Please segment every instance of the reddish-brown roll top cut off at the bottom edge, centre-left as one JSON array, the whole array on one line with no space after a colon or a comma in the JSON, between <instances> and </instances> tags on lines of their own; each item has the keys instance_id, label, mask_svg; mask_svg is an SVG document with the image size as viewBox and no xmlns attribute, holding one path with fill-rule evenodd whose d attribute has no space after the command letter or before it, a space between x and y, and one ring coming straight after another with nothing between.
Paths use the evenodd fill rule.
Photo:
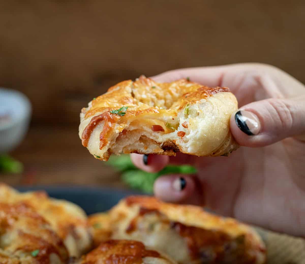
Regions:
<instances>
[{"instance_id":1,"label":"reddish-brown roll top cut off at the bottom edge, centre-left","mask_svg":"<svg viewBox=\"0 0 305 264\"><path fill-rule=\"evenodd\" d=\"M108 240L83 256L78 264L176 264L139 241Z\"/></svg>"}]
</instances>

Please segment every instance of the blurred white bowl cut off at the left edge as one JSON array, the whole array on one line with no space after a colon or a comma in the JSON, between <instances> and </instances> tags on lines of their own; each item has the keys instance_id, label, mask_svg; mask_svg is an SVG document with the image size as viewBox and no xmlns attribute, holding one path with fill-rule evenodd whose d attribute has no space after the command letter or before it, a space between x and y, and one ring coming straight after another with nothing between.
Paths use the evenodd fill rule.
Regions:
<instances>
[{"instance_id":1,"label":"blurred white bowl cut off at the left edge","mask_svg":"<svg viewBox=\"0 0 305 264\"><path fill-rule=\"evenodd\" d=\"M22 93L0 88L0 154L13 150L27 132L31 104Z\"/></svg>"}]
</instances>

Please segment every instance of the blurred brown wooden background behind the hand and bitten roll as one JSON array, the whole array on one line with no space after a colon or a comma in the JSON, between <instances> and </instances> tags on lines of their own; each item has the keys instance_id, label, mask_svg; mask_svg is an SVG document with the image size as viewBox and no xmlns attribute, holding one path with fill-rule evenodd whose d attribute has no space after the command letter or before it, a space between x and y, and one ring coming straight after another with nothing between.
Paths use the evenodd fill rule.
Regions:
<instances>
[{"instance_id":1,"label":"blurred brown wooden background behind the hand and bitten roll","mask_svg":"<svg viewBox=\"0 0 305 264\"><path fill-rule=\"evenodd\" d=\"M305 2L0 1L0 86L25 93L29 133L13 185L124 186L78 138L80 109L141 74L263 62L305 82Z\"/></svg>"}]
</instances>

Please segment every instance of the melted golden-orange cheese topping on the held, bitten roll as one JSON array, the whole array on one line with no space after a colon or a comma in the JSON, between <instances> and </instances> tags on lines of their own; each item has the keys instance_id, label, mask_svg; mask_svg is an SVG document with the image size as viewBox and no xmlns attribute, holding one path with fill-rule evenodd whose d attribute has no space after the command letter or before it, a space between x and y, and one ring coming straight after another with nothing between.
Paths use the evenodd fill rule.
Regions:
<instances>
[{"instance_id":1,"label":"melted golden-orange cheese topping on the held, bitten roll","mask_svg":"<svg viewBox=\"0 0 305 264\"><path fill-rule=\"evenodd\" d=\"M87 147L88 140L93 129L102 121L105 121L104 128L100 133L100 149L107 143L107 135L115 130L120 133L127 126L130 119L149 114L150 119L158 119L162 115L177 116L177 111L185 108L198 100L205 99L219 92L229 92L226 87L210 88L198 83L181 79L170 83L156 83L153 80L141 76L135 82L127 80L109 88L103 94L91 101L91 107L83 108L84 118L94 116L81 135L82 145ZM124 116L110 113L120 107L128 106ZM153 125L153 131L170 133L171 130L160 125ZM179 131L181 132L181 131ZM178 134L183 137L182 133Z\"/></svg>"}]
</instances>

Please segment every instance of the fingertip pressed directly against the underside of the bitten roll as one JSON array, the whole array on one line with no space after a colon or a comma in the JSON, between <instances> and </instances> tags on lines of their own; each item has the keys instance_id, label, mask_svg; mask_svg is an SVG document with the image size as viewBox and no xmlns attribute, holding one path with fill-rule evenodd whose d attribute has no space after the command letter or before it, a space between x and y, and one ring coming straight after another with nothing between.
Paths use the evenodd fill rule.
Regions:
<instances>
[{"instance_id":1,"label":"fingertip pressed directly against the underside of the bitten roll","mask_svg":"<svg viewBox=\"0 0 305 264\"><path fill-rule=\"evenodd\" d=\"M130 156L135 166L147 172L161 171L169 162L169 157L165 155L131 154Z\"/></svg>"}]
</instances>

